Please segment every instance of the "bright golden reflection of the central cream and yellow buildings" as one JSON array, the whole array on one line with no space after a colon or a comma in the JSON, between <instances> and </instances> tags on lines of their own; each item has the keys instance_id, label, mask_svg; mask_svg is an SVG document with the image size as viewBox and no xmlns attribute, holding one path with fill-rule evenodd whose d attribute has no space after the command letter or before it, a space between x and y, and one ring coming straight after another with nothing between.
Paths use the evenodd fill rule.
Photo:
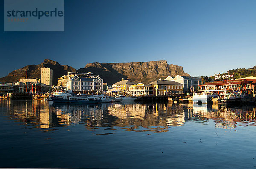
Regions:
<instances>
[{"instance_id":1,"label":"bright golden reflection of the central cream and yellow buildings","mask_svg":"<svg viewBox=\"0 0 256 169\"><path fill-rule=\"evenodd\" d=\"M115 126L180 126L184 124L183 106L178 104L108 104L103 109L115 119Z\"/></svg>"}]
</instances>

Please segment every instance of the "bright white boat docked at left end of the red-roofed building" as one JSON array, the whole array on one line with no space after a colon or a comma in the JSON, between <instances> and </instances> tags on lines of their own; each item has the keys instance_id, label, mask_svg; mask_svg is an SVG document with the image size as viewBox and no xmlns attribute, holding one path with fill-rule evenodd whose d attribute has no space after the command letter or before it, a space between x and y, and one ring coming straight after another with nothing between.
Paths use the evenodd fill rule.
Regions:
<instances>
[{"instance_id":1,"label":"bright white boat docked at left end of the red-roofed building","mask_svg":"<svg viewBox=\"0 0 256 169\"><path fill-rule=\"evenodd\" d=\"M212 91L205 91L204 93L195 93L193 96L193 103L211 103L212 98L218 97L218 94Z\"/></svg>"}]
</instances>

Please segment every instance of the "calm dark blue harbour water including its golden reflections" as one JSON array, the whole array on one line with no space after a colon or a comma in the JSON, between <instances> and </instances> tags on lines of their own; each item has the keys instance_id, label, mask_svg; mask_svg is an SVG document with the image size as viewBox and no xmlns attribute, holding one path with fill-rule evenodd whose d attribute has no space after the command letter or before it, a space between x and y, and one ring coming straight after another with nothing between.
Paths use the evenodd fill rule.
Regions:
<instances>
[{"instance_id":1,"label":"calm dark blue harbour water including its golden reflections","mask_svg":"<svg viewBox=\"0 0 256 169\"><path fill-rule=\"evenodd\" d=\"M253 168L255 106L0 100L0 167Z\"/></svg>"}]
</instances>

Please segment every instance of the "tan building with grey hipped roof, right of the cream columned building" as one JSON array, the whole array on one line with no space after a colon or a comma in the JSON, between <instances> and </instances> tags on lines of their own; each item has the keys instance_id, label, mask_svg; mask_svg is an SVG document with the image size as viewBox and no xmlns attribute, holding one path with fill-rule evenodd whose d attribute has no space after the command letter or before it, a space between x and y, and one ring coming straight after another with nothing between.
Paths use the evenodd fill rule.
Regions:
<instances>
[{"instance_id":1,"label":"tan building with grey hipped roof, right of the cream columned building","mask_svg":"<svg viewBox=\"0 0 256 169\"><path fill-rule=\"evenodd\" d=\"M172 80L159 79L150 83L149 85L154 85L155 96L169 96L172 94L183 94L183 84L172 81Z\"/></svg>"}]
</instances>

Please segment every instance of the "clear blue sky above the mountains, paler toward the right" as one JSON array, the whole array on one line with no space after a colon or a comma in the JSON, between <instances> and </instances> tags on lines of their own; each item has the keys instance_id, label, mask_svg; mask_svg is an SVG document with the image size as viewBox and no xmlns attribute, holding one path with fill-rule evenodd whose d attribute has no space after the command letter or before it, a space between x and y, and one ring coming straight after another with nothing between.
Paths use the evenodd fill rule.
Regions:
<instances>
[{"instance_id":1,"label":"clear blue sky above the mountains, paler toward the right","mask_svg":"<svg viewBox=\"0 0 256 169\"><path fill-rule=\"evenodd\" d=\"M1 23L0 77L44 59L76 69L167 60L196 76L256 65L255 0L66 0L64 32Z\"/></svg>"}]
</instances>

